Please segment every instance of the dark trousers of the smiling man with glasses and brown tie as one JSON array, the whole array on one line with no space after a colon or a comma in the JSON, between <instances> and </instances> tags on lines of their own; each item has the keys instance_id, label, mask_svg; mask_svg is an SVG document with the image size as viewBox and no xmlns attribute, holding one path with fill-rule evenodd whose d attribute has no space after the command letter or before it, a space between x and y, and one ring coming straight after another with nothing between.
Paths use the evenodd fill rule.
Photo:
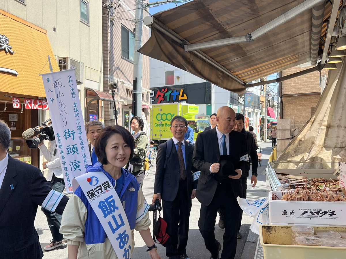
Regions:
<instances>
[{"instance_id":1,"label":"dark trousers of the smiling man with glasses and brown tie","mask_svg":"<svg viewBox=\"0 0 346 259\"><path fill-rule=\"evenodd\" d=\"M163 200L163 219L167 222L166 232L170 235L166 256L170 259L179 259L186 253L191 205L187 180L180 180L178 193L173 201Z\"/></svg>"}]
</instances>

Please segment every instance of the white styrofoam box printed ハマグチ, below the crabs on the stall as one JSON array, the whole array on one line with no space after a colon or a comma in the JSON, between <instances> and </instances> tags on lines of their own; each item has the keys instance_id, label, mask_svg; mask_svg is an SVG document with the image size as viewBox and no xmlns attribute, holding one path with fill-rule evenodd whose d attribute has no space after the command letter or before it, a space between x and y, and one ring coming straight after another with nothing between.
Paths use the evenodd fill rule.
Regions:
<instances>
[{"instance_id":1,"label":"white styrofoam box printed \u30cf\u30de\u30b0\u30c1, below the crabs on the stall","mask_svg":"<svg viewBox=\"0 0 346 259\"><path fill-rule=\"evenodd\" d=\"M281 201L286 192L269 193L269 221L299 224L345 226L346 202L343 201Z\"/></svg>"}]
</instances>

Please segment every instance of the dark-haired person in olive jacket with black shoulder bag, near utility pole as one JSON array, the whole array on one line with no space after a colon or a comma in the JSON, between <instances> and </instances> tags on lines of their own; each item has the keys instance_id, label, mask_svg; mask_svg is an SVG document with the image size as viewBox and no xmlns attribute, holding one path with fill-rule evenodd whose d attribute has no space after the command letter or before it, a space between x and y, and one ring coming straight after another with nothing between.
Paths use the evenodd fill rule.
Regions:
<instances>
[{"instance_id":1,"label":"dark-haired person in olive jacket with black shoulder bag, near utility pole","mask_svg":"<svg viewBox=\"0 0 346 259\"><path fill-rule=\"evenodd\" d=\"M148 150L148 137L143 132L144 122L143 119L138 116L133 116L130 121L131 129L135 132L133 137L135 139L135 146L134 149L134 156L140 156L143 158L143 164L140 165L130 165L131 170L130 172L136 176L137 181L140 185L140 187L143 187L143 181L144 181L144 159L145 154Z\"/></svg>"}]
</instances>

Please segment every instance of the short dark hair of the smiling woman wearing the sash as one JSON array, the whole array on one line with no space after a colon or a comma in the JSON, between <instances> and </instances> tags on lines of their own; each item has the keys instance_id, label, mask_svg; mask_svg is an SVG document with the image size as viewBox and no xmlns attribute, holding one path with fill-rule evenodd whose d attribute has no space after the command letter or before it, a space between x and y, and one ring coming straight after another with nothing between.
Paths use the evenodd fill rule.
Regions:
<instances>
[{"instance_id":1,"label":"short dark hair of the smiling woman wearing the sash","mask_svg":"<svg viewBox=\"0 0 346 259\"><path fill-rule=\"evenodd\" d=\"M97 155L99 161L103 165L108 164L107 155L106 155L106 146L107 146L109 138L113 136L114 134L120 134L122 136L125 143L128 144L131 148L130 159L133 156L133 152L135 149L135 141L131 133L128 130L126 130L126 128L118 126L118 125L108 126L101 131L95 143L95 154Z\"/></svg>"}]
</instances>

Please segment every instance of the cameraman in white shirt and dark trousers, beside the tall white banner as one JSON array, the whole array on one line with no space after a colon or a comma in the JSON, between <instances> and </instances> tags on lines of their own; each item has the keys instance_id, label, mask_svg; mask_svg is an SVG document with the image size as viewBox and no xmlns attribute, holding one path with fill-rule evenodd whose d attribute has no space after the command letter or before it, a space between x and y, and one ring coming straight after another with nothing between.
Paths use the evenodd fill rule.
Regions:
<instances>
[{"instance_id":1,"label":"cameraman in white shirt and dark trousers, beside the tall white banner","mask_svg":"<svg viewBox=\"0 0 346 259\"><path fill-rule=\"evenodd\" d=\"M42 151L43 156L49 162L43 162L43 169L48 168L47 181L51 188L57 192L63 192L65 189L65 182L63 171L60 164L59 152L56 147L55 140L48 142L48 148L41 142L38 148ZM51 230L53 239L48 246L44 247L44 250L53 250L60 246L66 246L66 243L62 241L63 235L59 233L61 224L61 215L55 212L50 212L46 209L41 208L46 214L49 229Z\"/></svg>"}]
</instances>

